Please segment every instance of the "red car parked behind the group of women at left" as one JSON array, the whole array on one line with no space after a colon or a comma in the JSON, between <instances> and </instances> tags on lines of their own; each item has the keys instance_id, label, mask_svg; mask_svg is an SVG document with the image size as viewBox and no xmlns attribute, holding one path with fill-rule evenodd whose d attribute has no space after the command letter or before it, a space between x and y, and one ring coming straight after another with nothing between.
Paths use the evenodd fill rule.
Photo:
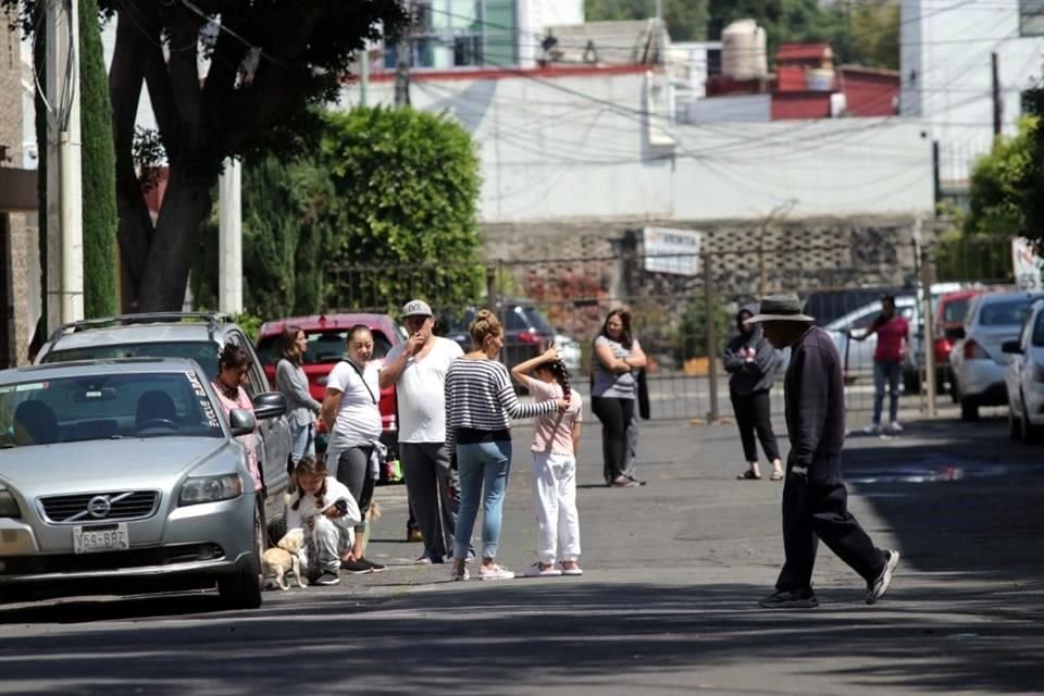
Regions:
<instances>
[{"instance_id":1,"label":"red car parked behind the group of women at left","mask_svg":"<svg viewBox=\"0 0 1044 696\"><path fill-rule=\"evenodd\" d=\"M287 325L300 326L308 336L308 352L302 366L308 375L312 398L322 401L326 394L326 377L345 358L348 330L356 324L368 326L373 333L373 360L380 368L385 356L403 340L403 332L387 314L319 314L288 316L265 322L258 332L258 357L272 388L275 388L275 364L279 361L279 336ZM384 434L381 440L388 448L388 458L398 459L398 431L395 417L395 386L381 389L381 420Z\"/></svg>"}]
</instances>

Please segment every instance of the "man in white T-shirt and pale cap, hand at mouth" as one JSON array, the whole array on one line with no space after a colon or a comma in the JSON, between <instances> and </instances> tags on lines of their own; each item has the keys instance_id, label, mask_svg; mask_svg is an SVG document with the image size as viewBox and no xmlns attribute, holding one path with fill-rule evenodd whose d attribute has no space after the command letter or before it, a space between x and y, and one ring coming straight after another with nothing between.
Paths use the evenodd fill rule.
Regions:
<instances>
[{"instance_id":1,"label":"man in white T-shirt and pale cap, hand at mouth","mask_svg":"<svg viewBox=\"0 0 1044 696\"><path fill-rule=\"evenodd\" d=\"M432 308L411 300L402 308L410 337L393 348L381 370L381 388L396 385L399 457L407 495L424 538L419 563L442 563L452 551L457 472L446 447L446 371L463 355L460 346L432 333Z\"/></svg>"}]
</instances>

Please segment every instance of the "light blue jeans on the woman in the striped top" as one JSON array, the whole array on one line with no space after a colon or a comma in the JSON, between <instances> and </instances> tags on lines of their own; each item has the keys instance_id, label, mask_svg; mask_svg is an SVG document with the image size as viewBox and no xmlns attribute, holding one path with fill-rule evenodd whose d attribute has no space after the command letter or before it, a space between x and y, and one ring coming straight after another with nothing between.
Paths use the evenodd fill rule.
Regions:
<instances>
[{"instance_id":1,"label":"light blue jeans on the woman in the striped top","mask_svg":"<svg viewBox=\"0 0 1044 696\"><path fill-rule=\"evenodd\" d=\"M511 470L511 442L457 445L460 473L460 512L453 533L453 558L468 557L471 533L482 501L482 556L497 557L504 496Z\"/></svg>"}]
</instances>

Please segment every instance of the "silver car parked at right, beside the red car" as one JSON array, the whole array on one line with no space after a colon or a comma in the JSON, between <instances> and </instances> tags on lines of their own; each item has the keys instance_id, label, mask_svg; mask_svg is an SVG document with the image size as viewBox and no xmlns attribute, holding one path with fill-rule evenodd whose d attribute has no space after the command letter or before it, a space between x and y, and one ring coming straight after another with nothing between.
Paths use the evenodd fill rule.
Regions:
<instances>
[{"instance_id":1,"label":"silver car parked at right, beside the red car","mask_svg":"<svg viewBox=\"0 0 1044 696\"><path fill-rule=\"evenodd\" d=\"M1008 357L1002 346L1019 337L1031 306L1042 297L1044 293L986 293L972 300L949 353L961 420L977 420L981 406L1008 403Z\"/></svg>"}]
</instances>

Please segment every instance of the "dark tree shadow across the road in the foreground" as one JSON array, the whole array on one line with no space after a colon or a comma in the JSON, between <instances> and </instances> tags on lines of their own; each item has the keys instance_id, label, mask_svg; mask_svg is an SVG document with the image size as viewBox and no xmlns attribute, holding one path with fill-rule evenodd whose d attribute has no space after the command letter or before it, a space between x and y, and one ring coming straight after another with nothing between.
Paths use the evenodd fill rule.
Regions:
<instances>
[{"instance_id":1,"label":"dark tree shadow across the road in the foreground","mask_svg":"<svg viewBox=\"0 0 1044 696\"><path fill-rule=\"evenodd\" d=\"M499 685L533 693L567 675L574 684L645 693L650 681L687 688L693 672L751 661L766 666L768 683L776 671L809 670L880 693L890 684L928 692L1040 686L1040 584L1009 598L1022 604L1017 617L990 622L980 614L995 598L941 596L937 587L899 584L873 608L858 589L828 588L820 599L829 604L801 612L758 609L763 592L745 584L471 582L362 613L345 595L315 594L196 623L126 622L0 639L0 669L35 693L63 693L69 679L77 693L112 693L115 685L152 695L185 693L194 683L207 693L296 691L310 679L323 680L323 693L502 693ZM169 616L206 611L208 604L166 601ZM41 608L37 618L53 619L52 611ZM33 621L34 612L0 610L0 621L13 620ZM672 674L686 682L672 682Z\"/></svg>"}]
</instances>

